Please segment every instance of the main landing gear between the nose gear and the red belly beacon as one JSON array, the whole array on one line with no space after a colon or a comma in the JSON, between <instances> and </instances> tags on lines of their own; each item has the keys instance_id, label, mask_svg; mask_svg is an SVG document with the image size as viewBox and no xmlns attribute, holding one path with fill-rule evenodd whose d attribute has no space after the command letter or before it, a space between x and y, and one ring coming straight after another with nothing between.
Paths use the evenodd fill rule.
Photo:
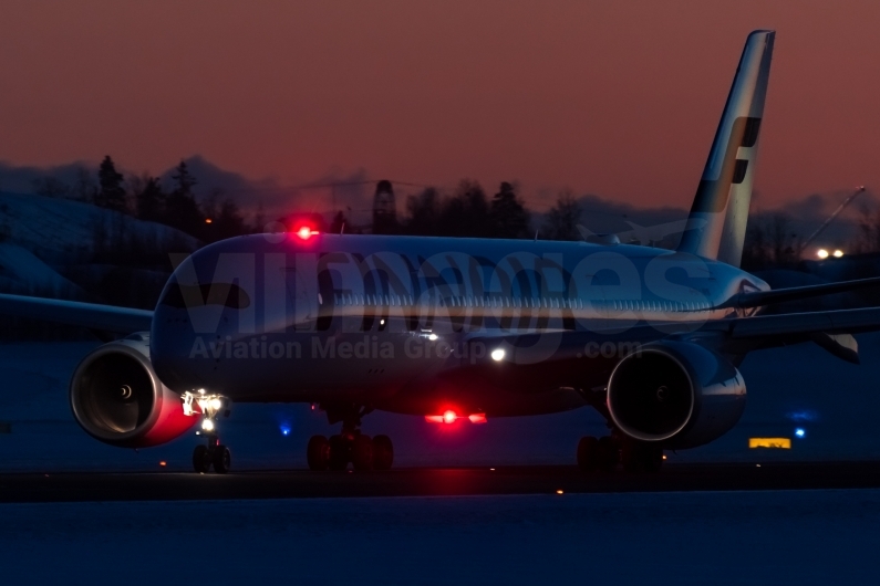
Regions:
<instances>
[{"instance_id":1,"label":"main landing gear between the nose gear and the red belly beacon","mask_svg":"<svg viewBox=\"0 0 880 586\"><path fill-rule=\"evenodd\" d=\"M330 425L342 421L342 432L312 436L306 450L310 470L345 470L351 462L358 471L389 470L394 462L394 446L387 436L370 438L359 429L361 418L372 409L358 405L325 407Z\"/></svg>"}]
</instances>

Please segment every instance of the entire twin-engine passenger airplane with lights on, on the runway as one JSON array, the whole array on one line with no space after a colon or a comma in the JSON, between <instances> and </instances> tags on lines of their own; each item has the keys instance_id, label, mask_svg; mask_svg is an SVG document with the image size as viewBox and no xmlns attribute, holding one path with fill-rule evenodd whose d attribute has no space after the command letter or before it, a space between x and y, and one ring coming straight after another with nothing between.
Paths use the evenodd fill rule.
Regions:
<instances>
[{"instance_id":1,"label":"entire twin-engine passenger airplane with lights on, on the runway","mask_svg":"<svg viewBox=\"0 0 880 586\"><path fill-rule=\"evenodd\" d=\"M584 471L656 471L663 450L714 441L743 415L750 352L814 342L857 363L880 308L762 315L880 279L770 290L739 268L775 32L746 40L676 250L629 244L296 231L175 258L154 311L0 296L0 313L115 332L73 373L70 402L123 448L193 430L196 471L231 465L232 404L320 407L312 470L387 470L373 410L477 425L591 407ZM573 448L573 447L572 447ZM574 451L574 450L572 450Z\"/></svg>"}]
</instances>

